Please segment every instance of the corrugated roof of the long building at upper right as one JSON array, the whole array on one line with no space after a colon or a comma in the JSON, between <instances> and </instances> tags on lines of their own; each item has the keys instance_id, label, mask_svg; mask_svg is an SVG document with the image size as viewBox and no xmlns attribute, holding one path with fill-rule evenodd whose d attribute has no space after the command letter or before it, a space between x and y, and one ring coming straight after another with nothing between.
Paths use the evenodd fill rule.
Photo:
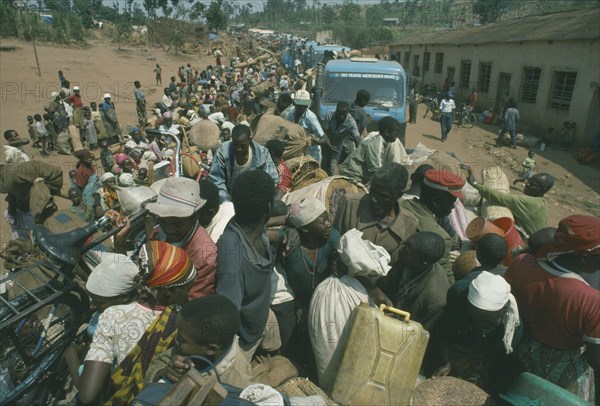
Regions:
<instances>
[{"instance_id":1,"label":"corrugated roof of the long building at upper right","mask_svg":"<svg viewBox=\"0 0 600 406\"><path fill-rule=\"evenodd\" d=\"M419 34L392 45L479 45L600 38L600 7L501 21L466 30Z\"/></svg>"}]
</instances>

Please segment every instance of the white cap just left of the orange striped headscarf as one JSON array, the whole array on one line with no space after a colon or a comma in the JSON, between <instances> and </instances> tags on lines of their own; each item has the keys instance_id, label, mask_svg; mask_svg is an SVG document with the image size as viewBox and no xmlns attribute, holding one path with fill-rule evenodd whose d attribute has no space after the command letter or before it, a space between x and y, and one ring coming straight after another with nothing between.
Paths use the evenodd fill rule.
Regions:
<instances>
[{"instance_id":1,"label":"white cap just left of the orange striped headscarf","mask_svg":"<svg viewBox=\"0 0 600 406\"><path fill-rule=\"evenodd\" d=\"M115 297L135 289L137 265L126 255L113 252L102 254L102 262L88 277L85 288L102 297Z\"/></svg>"}]
</instances>

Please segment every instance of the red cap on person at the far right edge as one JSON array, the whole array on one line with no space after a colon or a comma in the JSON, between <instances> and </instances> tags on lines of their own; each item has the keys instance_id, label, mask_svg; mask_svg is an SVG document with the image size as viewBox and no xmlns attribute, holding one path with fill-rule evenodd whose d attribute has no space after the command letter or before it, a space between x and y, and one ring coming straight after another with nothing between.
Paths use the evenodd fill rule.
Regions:
<instances>
[{"instance_id":1,"label":"red cap on person at the far right edge","mask_svg":"<svg viewBox=\"0 0 600 406\"><path fill-rule=\"evenodd\" d=\"M600 218L576 214L562 219L554 242L540 248L537 257L553 259L563 254L600 255Z\"/></svg>"}]
</instances>

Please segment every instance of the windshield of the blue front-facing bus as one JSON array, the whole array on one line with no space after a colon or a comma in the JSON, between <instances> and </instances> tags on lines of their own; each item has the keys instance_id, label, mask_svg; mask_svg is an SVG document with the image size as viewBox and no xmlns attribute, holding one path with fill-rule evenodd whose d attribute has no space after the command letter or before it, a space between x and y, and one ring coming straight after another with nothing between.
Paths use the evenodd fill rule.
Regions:
<instances>
[{"instance_id":1,"label":"windshield of the blue front-facing bus","mask_svg":"<svg viewBox=\"0 0 600 406\"><path fill-rule=\"evenodd\" d=\"M323 102L352 102L365 89L371 94L371 106L402 107L404 82L394 73L328 72L323 86Z\"/></svg>"}]
</instances>

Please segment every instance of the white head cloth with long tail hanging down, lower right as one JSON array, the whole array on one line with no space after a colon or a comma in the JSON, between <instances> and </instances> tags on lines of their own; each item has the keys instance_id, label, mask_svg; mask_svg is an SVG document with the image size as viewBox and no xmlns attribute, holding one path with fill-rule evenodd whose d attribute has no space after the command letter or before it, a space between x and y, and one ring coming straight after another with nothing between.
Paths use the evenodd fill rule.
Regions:
<instances>
[{"instance_id":1,"label":"white head cloth with long tail hanging down, lower right","mask_svg":"<svg viewBox=\"0 0 600 406\"><path fill-rule=\"evenodd\" d=\"M520 321L517 301L510 293L510 285L506 282L506 279L487 271L481 272L469 285L467 299L473 306L492 312L502 309L507 302L509 303L506 312L502 316L502 324L504 325L502 341L506 353L510 354L513 351L512 339L515 328L520 324Z\"/></svg>"}]
</instances>

